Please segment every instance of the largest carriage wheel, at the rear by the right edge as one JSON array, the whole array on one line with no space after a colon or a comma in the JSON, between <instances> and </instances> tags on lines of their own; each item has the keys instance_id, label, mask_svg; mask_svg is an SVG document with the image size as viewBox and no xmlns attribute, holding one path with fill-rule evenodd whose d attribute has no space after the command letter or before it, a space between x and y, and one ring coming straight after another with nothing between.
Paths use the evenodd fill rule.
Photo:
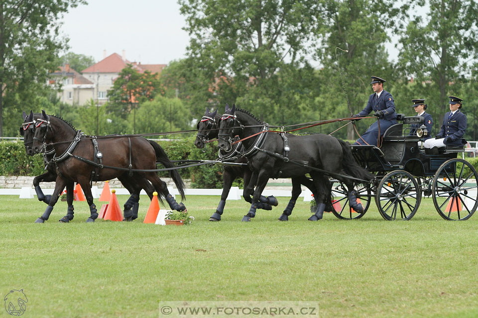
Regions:
<instances>
[{"instance_id":1,"label":"largest carriage wheel, at the rear by the right edge","mask_svg":"<svg viewBox=\"0 0 478 318\"><path fill-rule=\"evenodd\" d=\"M471 218L478 206L477 180L477 170L463 159L450 159L438 168L433 179L433 204L442 218L451 221Z\"/></svg>"}]
</instances>

